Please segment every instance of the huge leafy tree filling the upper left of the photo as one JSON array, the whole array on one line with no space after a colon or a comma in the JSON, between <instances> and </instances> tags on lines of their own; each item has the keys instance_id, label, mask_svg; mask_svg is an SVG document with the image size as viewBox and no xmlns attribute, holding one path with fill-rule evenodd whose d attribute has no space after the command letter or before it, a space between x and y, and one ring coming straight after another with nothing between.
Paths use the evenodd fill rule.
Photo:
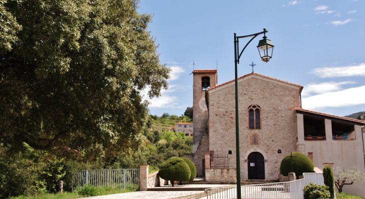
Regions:
<instances>
[{"instance_id":1,"label":"huge leafy tree filling the upper left of the photo","mask_svg":"<svg viewBox=\"0 0 365 199\"><path fill-rule=\"evenodd\" d=\"M111 159L143 141L167 88L137 0L0 1L0 141ZM4 27L4 28L3 28Z\"/></svg>"}]
</instances>

